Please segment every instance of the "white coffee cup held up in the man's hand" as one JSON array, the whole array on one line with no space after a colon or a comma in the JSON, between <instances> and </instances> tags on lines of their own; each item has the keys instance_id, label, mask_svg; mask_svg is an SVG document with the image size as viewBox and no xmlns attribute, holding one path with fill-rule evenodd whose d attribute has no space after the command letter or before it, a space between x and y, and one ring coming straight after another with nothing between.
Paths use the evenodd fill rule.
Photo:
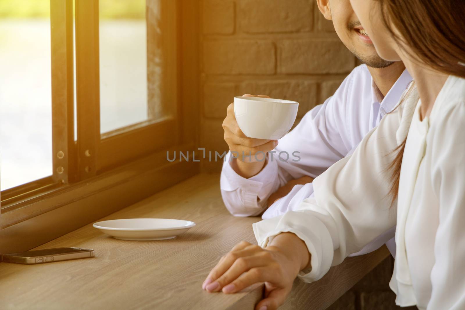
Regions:
<instances>
[{"instance_id":1,"label":"white coffee cup held up in the man's hand","mask_svg":"<svg viewBox=\"0 0 465 310\"><path fill-rule=\"evenodd\" d=\"M234 115L249 138L281 139L297 116L299 102L262 97L234 97Z\"/></svg>"}]
</instances>

